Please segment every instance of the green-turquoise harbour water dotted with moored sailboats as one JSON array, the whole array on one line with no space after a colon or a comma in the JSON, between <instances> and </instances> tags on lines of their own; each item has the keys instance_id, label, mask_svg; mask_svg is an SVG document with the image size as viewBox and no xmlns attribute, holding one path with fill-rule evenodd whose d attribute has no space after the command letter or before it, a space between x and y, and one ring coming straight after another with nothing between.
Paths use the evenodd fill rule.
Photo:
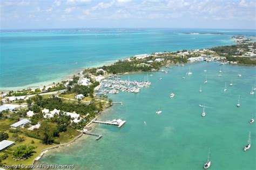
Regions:
<instances>
[{"instance_id":1,"label":"green-turquoise harbour water dotted with moored sailboats","mask_svg":"<svg viewBox=\"0 0 256 170\"><path fill-rule=\"evenodd\" d=\"M193 74L188 77L189 66ZM82 138L44 155L38 164L75 164L76 169L203 169L211 147L210 169L255 169L256 124L248 123L256 111L255 94L250 95L256 85L255 67L223 65L222 77L217 76L219 69L218 63L205 62L174 66L161 74L162 80L160 72L154 72L149 76L152 85L138 94L110 95L124 105L114 105L98 119L122 118L127 121L122 128L97 125L94 132L103 135L99 141ZM130 74L130 80L144 79L146 74ZM173 99L171 92L176 94ZM204 118L199 104L211 107ZM157 115L159 105L163 112ZM249 131L252 146L244 152Z\"/></svg>"}]
</instances>

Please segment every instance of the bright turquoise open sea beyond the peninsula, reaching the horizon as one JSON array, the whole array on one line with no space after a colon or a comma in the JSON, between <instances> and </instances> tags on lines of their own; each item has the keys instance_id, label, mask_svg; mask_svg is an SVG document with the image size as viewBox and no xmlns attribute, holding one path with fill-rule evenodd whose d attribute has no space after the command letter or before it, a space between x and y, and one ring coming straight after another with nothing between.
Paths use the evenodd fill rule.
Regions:
<instances>
[{"instance_id":1,"label":"bright turquoise open sea beyond the peninsula, reaching the horizon","mask_svg":"<svg viewBox=\"0 0 256 170\"><path fill-rule=\"evenodd\" d=\"M223 33L188 35L188 32ZM141 53L233 44L254 30L91 29L19 30L0 34L0 89L42 86L85 67Z\"/></svg>"}]
</instances>

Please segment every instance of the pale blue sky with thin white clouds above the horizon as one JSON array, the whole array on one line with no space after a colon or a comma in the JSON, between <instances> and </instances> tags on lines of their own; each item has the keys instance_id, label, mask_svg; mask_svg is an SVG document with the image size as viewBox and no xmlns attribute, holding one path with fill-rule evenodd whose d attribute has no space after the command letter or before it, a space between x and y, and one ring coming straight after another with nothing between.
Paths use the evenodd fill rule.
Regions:
<instances>
[{"instance_id":1,"label":"pale blue sky with thin white clouds above the horizon","mask_svg":"<svg viewBox=\"0 0 256 170\"><path fill-rule=\"evenodd\" d=\"M251 0L0 0L0 29L256 29Z\"/></svg>"}]
</instances>

